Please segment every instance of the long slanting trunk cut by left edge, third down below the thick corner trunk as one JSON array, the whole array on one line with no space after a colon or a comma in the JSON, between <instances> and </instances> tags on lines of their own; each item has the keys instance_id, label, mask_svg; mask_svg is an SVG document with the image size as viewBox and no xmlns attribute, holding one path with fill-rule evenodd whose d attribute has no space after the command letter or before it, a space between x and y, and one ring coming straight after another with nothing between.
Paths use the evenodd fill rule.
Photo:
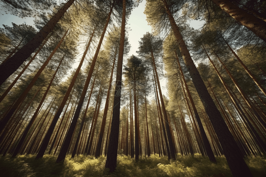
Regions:
<instances>
[{"instance_id":1,"label":"long slanting trunk cut by left edge, third down below the thick corner trunk","mask_svg":"<svg viewBox=\"0 0 266 177\"><path fill-rule=\"evenodd\" d=\"M2 119L2 121L0 123L0 132L4 129L6 123L8 122L8 120L10 120L10 118L13 115L13 113L15 112L16 108L19 106L19 104L22 102L22 100L26 97L26 95L28 94L28 92L30 91L30 89L32 88L32 86L34 85L34 83L36 82L36 80L39 78L39 76L41 75L41 73L44 70L44 68L46 67L46 65L49 63L49 61L51 60L51 58L54 56L54 53L60 47L61 43L63 42L63 40L65 38L65 36L67 35L67 32L68 32L68 30L65 32L65 34L62 37L62 39L59 41L59 43L57 44L57 46L54 48L53 52L50 54L50 56L47 58L47 60L44 62L44 64L41 66L41 68L38 70L38 72L35 74L34 78L29 83L29 85L27 86L27 88L19 96L19 98L17 99L17 101L15 102L15 104L13 105L13 107L10 109L10 111L8 112L8 114Z\"/></svg>"}]
</instances>

